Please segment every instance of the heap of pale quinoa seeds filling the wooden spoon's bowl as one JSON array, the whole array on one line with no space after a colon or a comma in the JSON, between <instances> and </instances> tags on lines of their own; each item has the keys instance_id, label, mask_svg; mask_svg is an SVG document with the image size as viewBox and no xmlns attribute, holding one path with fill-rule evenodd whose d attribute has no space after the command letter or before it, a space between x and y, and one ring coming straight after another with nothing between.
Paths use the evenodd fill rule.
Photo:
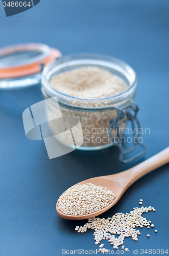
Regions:
<instances>
[{"instance_id":1,"label":"heap of pale quinoa seeds filling the wooden spoon's bowl","mask_svg":"<svg viewBox=\"0 0 169 256\"><path fill-rule=\"evenodd\" d=\"M108 206L114 198L116 198L115 194L106 187L92 183L77 184L68 188L60 196L58 209L66 215L87 215ZM79 230L78 226L75 230Z\"/></svg>"}]
</instances>

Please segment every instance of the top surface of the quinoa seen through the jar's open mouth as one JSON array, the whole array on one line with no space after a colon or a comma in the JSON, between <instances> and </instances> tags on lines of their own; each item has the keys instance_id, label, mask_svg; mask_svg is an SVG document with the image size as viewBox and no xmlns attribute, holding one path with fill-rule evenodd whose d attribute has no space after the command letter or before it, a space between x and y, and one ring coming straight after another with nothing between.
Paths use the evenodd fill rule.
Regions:
<instances>
[{"instance_id":1,"label":"top surface of the quinoa seen through the jar's open mouth","mask_svg":"<svg viewBox=\"0 0 169 256\"><path fill-rule=\"evenodd\" d=\"M57 91L80 98L105 98L126 90L123 79L97 67L63 72L52 78L50 84Z\"/></svg>"}]
</instances>

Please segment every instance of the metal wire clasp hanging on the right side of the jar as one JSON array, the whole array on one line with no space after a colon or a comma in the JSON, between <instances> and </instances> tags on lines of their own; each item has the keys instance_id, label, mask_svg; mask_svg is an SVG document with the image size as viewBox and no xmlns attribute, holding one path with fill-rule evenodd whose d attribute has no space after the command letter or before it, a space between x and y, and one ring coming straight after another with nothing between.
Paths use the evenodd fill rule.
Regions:
<instances>
[{"instance_id":1,"label":"metal wire clasp hanging on the right side of the jar","mask_svg":"<svg viewBox=\"0 0 169 256\"><path fill-rule=\"evenodd\" d=\"M118 146L119 149L120 149L120 156L119 156L120 161L122 163L129 163L129 162L133 161L134 159L144 155L145 152L146 152L146 146L143 143L139 142L140 133L138 133L136 135L136 126L138 127L138 131L141 128L140 123L138 121L138 118L136 117L139 108L134 102L130 101L129 105L127 105L124 109L119 109L119 108L115 108L115 109L117 110L117 117L112 118L111 121L110 121L109 136L110 136L111 142L114 145ZM132 135L134 137L134 146L130 147L127 150L125 150L124 146L122 145L122 134L120 134L120 129L119 129L120 128L119 126L121 124L120 120L122 120L122 119L126 123L127 123L127 121L131 122L131 130L132 130ZM116 138L118 140L116 140L116 138L114 138L114 136L112 135L112 133L111 133L112 129L114 131L116 131ZM124 156L126 154L134 151L138 144L140 146L142 146L142 148L143 148L142 152L140 152L140 153L134 155L133 157L128 158L128 159L125 160Z\"/></svg>"}]
</instances>

